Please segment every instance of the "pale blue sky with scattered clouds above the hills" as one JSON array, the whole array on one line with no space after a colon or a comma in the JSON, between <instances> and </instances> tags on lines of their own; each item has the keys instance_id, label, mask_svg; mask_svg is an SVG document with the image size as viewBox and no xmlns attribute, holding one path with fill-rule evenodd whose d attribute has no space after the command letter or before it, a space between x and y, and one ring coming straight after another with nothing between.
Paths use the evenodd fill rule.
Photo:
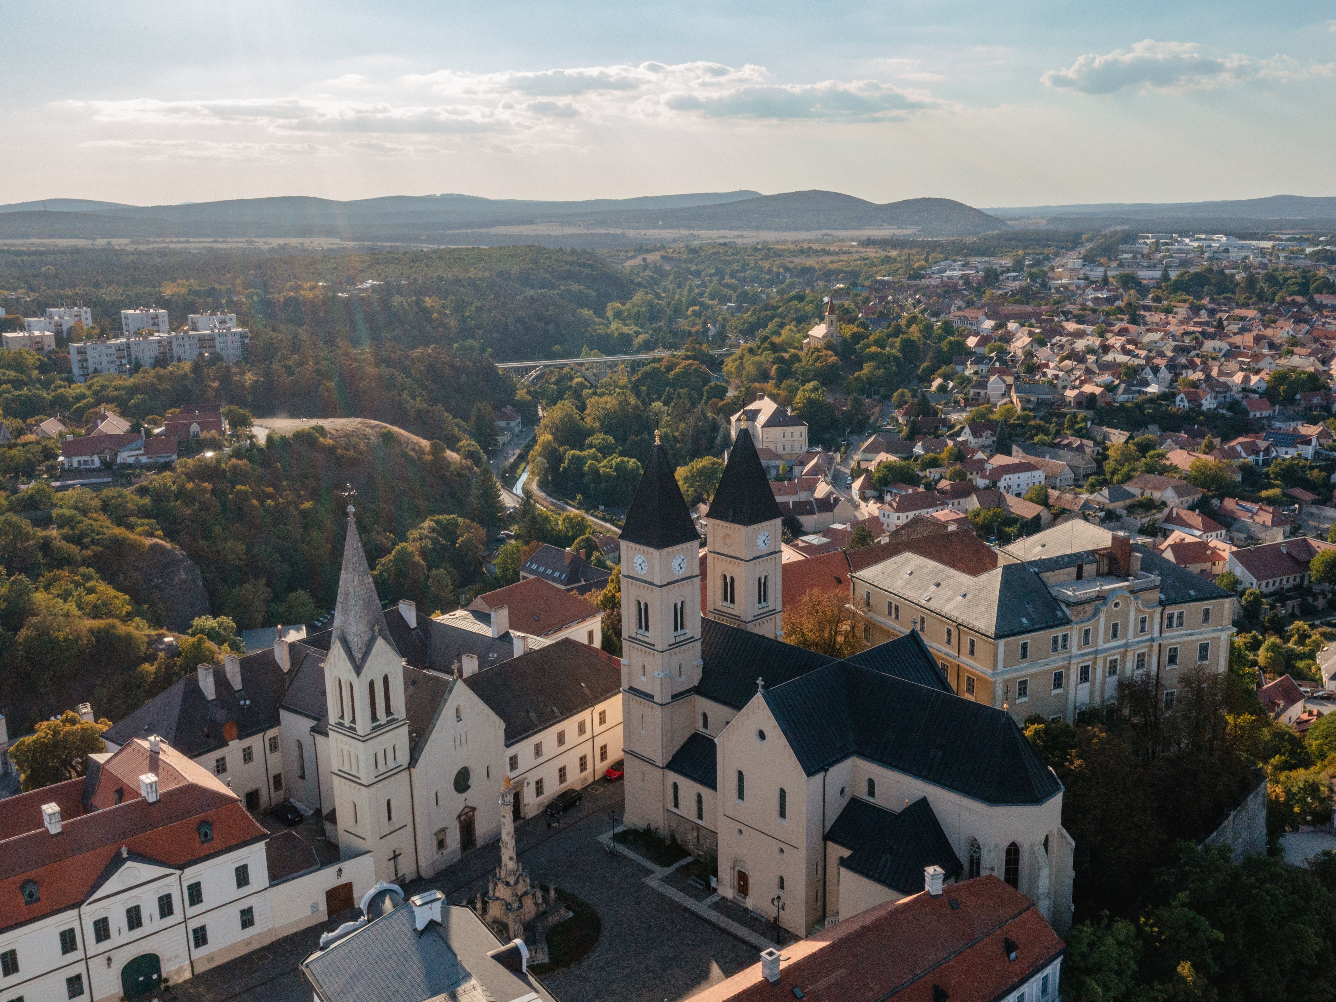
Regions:
<instances>
[{"instance_id":1,"label":"pale blue sky with scattered clouds above the hills","mask_svg":"<svg viewBox=\"0 0 1336 1002\"><path fill-rule=\"evenodd\" d=\"M4 0L0 203L1336 195L1303 0Z\"/></svg>"}]
</instances>

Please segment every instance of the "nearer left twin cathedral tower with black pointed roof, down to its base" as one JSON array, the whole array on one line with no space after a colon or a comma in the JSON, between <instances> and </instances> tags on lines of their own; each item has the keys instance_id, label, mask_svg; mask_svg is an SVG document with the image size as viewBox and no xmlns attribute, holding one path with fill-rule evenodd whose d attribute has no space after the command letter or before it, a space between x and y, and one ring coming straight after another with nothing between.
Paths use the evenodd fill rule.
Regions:
<instances>
[{"instance_id":1,"label":"nearer left twin cathedral tower with black pointed roof, down to its base","mask_svg":"<svg viewBox=\"0 0 1336 1002\"><path fill-rule=\"evenodd\" d=\"M663 767L691 736L700 681L700 533L655 434L621 530L621 709L627 824L664 828Z\"/></svg>"}]
</instances>

